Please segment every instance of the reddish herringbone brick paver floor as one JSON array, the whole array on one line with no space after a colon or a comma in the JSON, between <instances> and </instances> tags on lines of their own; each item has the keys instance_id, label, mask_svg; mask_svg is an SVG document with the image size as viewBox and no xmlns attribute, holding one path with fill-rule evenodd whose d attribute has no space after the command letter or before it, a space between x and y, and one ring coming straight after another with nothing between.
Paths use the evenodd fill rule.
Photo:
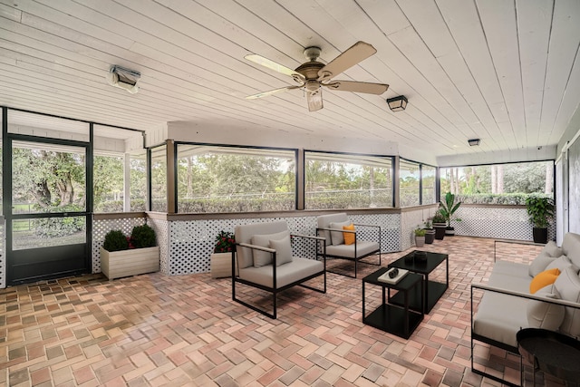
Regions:
<instances>
[{"instance_id":1,"label":"reddish herringbone brick paver floor","mask_svg":"<svg viewBox=\"0 0 580 387\"><path fill-rule=\"evenodd\" d=\"M494 241L446 237L424 249L449 254L449 289L409 340L362 324L361 278L376 266L359 266L357 279L328 274L325 295L287 290L277 320L234 303L231 280L209 274L8 287L0 290L0 385L498 386L469 363L469 285L487 280ZM527 262L539 247L498 251ZM385 255L383 266L403 254ZM430 279L444 276L441 266ZM268 305L255 289L244 293ZM367 310L380 297L367 288ZM518 381L516 356L484 344L475 351L489 372Z\"/></svg>"}]
</instances>

